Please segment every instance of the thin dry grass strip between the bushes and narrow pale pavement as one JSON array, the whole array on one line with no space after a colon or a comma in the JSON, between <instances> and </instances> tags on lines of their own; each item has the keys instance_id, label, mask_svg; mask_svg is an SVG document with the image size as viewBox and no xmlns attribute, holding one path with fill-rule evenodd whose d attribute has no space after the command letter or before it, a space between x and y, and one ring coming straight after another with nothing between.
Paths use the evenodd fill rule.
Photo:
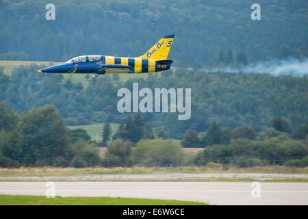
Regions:
<instances>
[{"instance_id":1,"label":"thin dry grass strip between the bushes and narrow pale pavement","mask_svg":"<svg viewBox=\"0 0 308 219\"><path fill-rule=\"evenodd\" d=\"M95 168L54 168L54 167L21 167L0 168L0 177L68 177L81 175L103 174L149 174L149 173L281 173L281 174L307 174L307 168L293 168L286 166L255 166L249 168L230 167L222 170L211 166L179 166L179 167L95 167ZM306 178L306 177L305 177ZM307 180L307 178L305 179Z\"/></svg>"}]
</instances>

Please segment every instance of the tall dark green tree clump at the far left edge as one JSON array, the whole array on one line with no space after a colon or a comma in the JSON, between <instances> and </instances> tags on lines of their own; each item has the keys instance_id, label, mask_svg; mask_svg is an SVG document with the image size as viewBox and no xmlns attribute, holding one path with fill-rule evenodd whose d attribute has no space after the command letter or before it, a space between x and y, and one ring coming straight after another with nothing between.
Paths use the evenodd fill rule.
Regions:
<instances>
[{"instance_id":1,"label":"tall dark green tree clump at the far left edge","mask_svg":"<svg viewBox=\"0 0 308 219\"><path fill-rule=\"evenodd\" d=\"M1 101L0 124L0 166L101 164L101 157L86 131L70 131L53 105L32 108L18 116Z\"/></svg>"}]
</instances>

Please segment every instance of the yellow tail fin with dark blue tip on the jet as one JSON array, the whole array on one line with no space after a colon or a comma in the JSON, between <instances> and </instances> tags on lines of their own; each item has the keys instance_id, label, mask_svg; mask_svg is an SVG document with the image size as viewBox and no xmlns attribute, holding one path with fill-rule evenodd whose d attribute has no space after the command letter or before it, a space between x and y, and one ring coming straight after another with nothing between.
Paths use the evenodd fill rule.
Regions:
<instances>
[{"instance_id":1,"label":"yellow tail fin with dark blue tip on the jet","mask_svg":"<svg viewBox=\"0 0 308 219\"><path fill-rule=\"evenodd\" d=\"M156 42L156 44L151 49L149 49L149 51L139 57L149 60L166 60L173 38L175 38L175 34L164 36L162 39Z\"/></svg>"}]
</instances>

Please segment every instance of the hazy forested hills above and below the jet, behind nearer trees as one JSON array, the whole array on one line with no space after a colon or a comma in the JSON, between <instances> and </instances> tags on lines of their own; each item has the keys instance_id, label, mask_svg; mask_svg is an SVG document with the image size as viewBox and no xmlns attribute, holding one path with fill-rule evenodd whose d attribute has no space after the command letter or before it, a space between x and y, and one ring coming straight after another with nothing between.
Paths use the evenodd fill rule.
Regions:
<instances>
[{"instance_id":1,"label":"hazy forested hills above and below the jet, behind nearer trees","mask_svg":"<svg viewBox=\"0 0 308 219\"><path fill-rule=\"evenodd\" d=\"M0 0L0 60L66 61L85 54L133 57L162 36L175 34L169 57L179 68L128 80L88 75L78 82L75 75L38 74L43 66L19 66L7 75L0 69L0 100L18 114L53 104L67 125L105 120L120 124L127 114L117 111L116 93L138 82L140 89L192 89L189 120L178 120L177 113L141 114L145 123L171 138L183 138L188 129L205 132L214 122L256 132L270 127L279 115L292 130L308 122L308 81L301 77L305 74L272 77L271 70L253 75L249 70L230 74L203 68L247 66L271 58L307 60L307 1L260 0L260 21L251 19L252 0L55 0L54 21L45 18L47 3Z\"/></svg>"}]
</instances>

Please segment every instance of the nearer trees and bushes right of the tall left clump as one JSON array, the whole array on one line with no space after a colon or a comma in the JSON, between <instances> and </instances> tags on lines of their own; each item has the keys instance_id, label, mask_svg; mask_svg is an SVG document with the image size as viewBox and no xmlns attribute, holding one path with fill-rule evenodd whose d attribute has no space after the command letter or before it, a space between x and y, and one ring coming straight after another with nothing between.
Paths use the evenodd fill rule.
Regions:
<instances>
[{"instance_id":1,"label":"nearer trees and bushes right of the tall left clump","mask_svg":"<svg viewBox=\"0 0 308 219\"><path fill-rule=\"evenodd\" d=\"M140 125L141 124L141 125ZM106 124L105 127L108 127ZM159 131L154 135L143 135L144 125L137 114L133 120L129 116L127 125L120 125L107 145L103 159L104 166L179 166L233 164L239 167L285 165L308 166L308 125L299 124L292 133L287 120L277 116L272 127L255 133L251 127L222 128L216 122L204 133L189 129L185 132L180 144L165 138ZM139 138L134 131L138 128ZM103 129L105 136L106 129ZM131 136L128 134L131 132ZM108 132L109 133L109 132ZM151 131L153 133L153 131ZM127 135L128 134L128 135ZM167 140L166 140L167 139ZM103 140L105 142L105 140ZM183 159L182 147L203 147L201 153L191 159ZM132 148L135 147L134 151Z\"/></svg>"}]
</instances>

